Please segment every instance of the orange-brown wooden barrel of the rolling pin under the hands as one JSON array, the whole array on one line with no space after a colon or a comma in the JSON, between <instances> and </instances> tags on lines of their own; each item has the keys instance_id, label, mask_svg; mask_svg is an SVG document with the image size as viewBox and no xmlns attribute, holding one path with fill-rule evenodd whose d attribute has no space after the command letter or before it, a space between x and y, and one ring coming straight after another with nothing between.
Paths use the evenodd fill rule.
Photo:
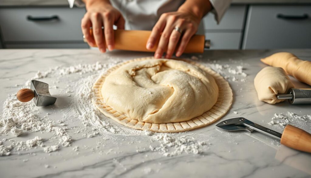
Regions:
<instances>
[{"instance_id":1,"label":"orange-brown wooden barrel of the rolling pin under the hands","mask_svg":"<svg viewBox=\"0 0 311 178\"><path fill-rule=\"evenodd\" d=\"M93 36L92 29L90 29L90 33L91 36ZM154 52L157 49L159 39L156 41L156 45L151 50L148 50L146 44L150 34L151 31L144 30L114 30L114 48L126 51ZM184 53L203 53L204 43L204 35L193 35L186 46ZM179 44L177 44L177 46L178 45Z\"/></svg>"}]
</instances>

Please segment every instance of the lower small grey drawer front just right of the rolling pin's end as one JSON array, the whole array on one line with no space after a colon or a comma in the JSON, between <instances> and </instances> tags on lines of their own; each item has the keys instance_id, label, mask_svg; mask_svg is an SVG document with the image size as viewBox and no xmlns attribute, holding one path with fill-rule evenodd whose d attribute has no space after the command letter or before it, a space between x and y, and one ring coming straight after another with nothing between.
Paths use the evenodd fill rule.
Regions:
<instances>
[{"instance_id":1,"label":"lower small grey drawer front just right of the rolling pin's end","mask_svg":"<svg viewBox=\"0 0 311 178\"><path fill-rule=\"evenodd\" d=\"M205 38L211 40L210 49L239 49L241 33L205 33Z\"/></svg>"}]
</instances>

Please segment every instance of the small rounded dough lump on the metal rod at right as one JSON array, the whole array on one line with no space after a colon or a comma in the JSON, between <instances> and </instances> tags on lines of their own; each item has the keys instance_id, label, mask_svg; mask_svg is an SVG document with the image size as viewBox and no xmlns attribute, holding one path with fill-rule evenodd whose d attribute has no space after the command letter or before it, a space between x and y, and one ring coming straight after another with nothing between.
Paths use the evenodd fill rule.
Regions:
<instances>
[{"instance_id":1,"label":"small rounded dough lump on the metal rod at right","mask_svg":"<svg viewBox=\"0 0 311 178\"><path fill-rule=\"evenodd\" d=\"M277 99L277 94L285 94L294 84L281 67L265 67L254 79L258 99L269 104L279 103L285 99Z\"/></svg>"}]
</instances>

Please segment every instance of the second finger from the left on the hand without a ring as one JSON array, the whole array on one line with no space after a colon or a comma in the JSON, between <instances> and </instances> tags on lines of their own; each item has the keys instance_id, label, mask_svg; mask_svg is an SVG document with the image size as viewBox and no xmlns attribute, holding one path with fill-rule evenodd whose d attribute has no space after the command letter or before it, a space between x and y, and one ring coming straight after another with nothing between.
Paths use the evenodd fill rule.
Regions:
<instances>
[{"instance_id":1,"label":"second finger from the left on the hand without a ring","mask_svg":"<svg viewBox=\"0 0 311 178\"><path fill-rule=\"evenodd\" d=\"M95 42L99 50L104 53L106 52L106 46L103 40L103 30L101 29L103 22L100 13L94 13L91 16L91 20L93 25L93 35Z\"/></svg>"}]
</instances>

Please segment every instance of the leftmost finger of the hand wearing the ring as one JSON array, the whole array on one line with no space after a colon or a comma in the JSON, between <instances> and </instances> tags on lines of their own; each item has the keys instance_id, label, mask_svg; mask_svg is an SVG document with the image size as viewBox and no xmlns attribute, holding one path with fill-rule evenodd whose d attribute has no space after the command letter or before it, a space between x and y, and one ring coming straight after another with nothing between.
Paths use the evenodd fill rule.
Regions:
<instances>
[{"instance_id":1,"label":"leftmost finger of the hand wearing the ring","mask_svg":"<svg viewBox=\"0 0 311 178\"><path fill-rule=\"evenodd\" d=\"M166 25L166 18L165 16L161 16L156 25L152 28L151 34L147 40L146 48L148 50L152 49L156 41L159 39L161 32L164 30Z\"/></svg>"}]
</instances>

